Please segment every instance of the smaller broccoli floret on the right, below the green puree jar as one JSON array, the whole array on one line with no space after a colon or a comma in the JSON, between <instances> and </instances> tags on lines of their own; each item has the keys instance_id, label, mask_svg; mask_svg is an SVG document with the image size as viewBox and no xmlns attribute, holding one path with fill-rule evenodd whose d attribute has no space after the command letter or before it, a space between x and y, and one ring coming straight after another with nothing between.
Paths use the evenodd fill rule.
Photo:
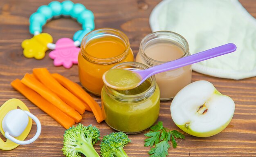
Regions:
<instances>
[{"instance_id":1,"label":"smaller broccoli floret on the right, below the green puree jar","mask_svg":"<svg viewBox=\"0 0 256 157\"><path fill-rule=\"evenodd\" d=\"M128 157L123 147L126 146L130 139L124 132L112 132L103 137L101 146L102 157Z\"/></svg>"}]
</instances>

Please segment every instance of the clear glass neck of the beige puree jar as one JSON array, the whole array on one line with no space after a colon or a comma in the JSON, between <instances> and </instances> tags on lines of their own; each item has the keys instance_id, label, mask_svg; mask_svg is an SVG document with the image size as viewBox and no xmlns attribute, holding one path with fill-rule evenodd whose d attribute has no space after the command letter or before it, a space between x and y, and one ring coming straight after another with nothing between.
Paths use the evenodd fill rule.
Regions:
<instances>
[{"instance_id":1,"label":"clear glass neck of the beige puree jar","mask_svg":"<svg viewBox=\"0 0 256 157\"><path fill-rule=\"evenodd\" d=\"M189 44L183 36L181 36L180 34L177 34L175 32L172 32L172 31L156 31L156 32L153 32L153 33L145 36L141 40L141 43L139 46L138 55L141 56L141 59L147 65L155 66L155 65L160 65L160 64L166 63L166 61L157 61L153 58L150 58L145 53L145 49L147 49L148 47L150 47L151 45L154 45L156 43L170 43L170 44L180 47L182 49L182 51L184 52L184 54L180 58L190 55L189 54Z\"/></svg>"}]
</instances>

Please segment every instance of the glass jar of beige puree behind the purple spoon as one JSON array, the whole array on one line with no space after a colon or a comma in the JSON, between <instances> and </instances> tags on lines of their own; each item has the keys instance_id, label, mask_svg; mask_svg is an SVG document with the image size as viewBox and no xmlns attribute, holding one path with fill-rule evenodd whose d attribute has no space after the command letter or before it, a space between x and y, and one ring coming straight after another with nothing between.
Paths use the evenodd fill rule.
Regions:
<instances>
[{"instance_id":1,"label":"glass jar of beige puree behind the purple spoon","mask_svg":"<svg viewBox=\"0 0 256 157\"><path fill-rule=\"evenodd\" d=\"M189 56L189 44L180 34L171 31L157 31L141 40L136 62L149 67ZM155 75L161 100L170 100L183 87L191 83L191 65Z\"/></svg>"}]
</instances>

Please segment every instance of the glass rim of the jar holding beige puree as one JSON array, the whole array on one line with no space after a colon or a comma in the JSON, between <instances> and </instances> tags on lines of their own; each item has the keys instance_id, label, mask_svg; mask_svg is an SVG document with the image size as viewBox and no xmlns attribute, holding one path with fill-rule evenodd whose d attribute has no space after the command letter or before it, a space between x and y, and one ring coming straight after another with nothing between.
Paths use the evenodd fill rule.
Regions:
<instances>
[{"instance_id":1,"label":"glass rim of the jar holding beige puree","mask_svg":"<svg viewBox=\"0 0 256 157\"><path fill-rule=\"evenodd\" d=\"M161 38L159 36L164 36L166 39L168 38L169 40L172 40L175 43L182 43L182 49L184 50L184 54L180 57L186 57L189 56L189 43L187 42L187 40L180 34L177 34L173 31L155 31L152 32L148 35L146 35L142 40L141 43L139 45L139 53L138 55L141 55L142 59L144 59L144 61L146 61L146 63L150 66L155 66L155 65L160 65L166 62L170 62L170 61L157 61L151 57L149 57L148 55L146 55L144 53L144 49L146 48L146 44L148 42L150 42L151 40L153 40L153 38ZM177 41L180 40L180 41ZM145 48L144 48L145 47ZM179 58L178 58L179 59Z\"/></svg>"}]
</instances>

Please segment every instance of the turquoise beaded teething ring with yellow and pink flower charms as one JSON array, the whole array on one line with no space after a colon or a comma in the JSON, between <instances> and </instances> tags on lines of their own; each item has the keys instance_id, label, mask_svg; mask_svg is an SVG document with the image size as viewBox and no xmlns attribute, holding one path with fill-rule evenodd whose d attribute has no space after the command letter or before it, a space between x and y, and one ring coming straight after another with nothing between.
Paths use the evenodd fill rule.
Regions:
<instances>
[{"instance_id":1,"label":"turquoise beaded teething ring with yellow and pink flower charms","mask_svg":"<svg viewBox=\"0 0 256 157\"><path fill-rule=\"evenodd\" d=\"M70 16L76 18L82 25L82 30L76 31L73 40L61 38L56 44L52 43L52 36L42 33L42 27L47 20L60 16ZM27 58L42 59L47 49L54 49L49 53L49 57L54 59L54 65L63 65L65 68L77 64L79 53L78 46L81 45L83 37L94 29L94 15L92 11L85 8L83 4L74 4L70 0L63 2L53 1L48 5L40 6L29 18L29 32L33 38L22 42L23 54Z\"/></svg>"}]
</instances>

